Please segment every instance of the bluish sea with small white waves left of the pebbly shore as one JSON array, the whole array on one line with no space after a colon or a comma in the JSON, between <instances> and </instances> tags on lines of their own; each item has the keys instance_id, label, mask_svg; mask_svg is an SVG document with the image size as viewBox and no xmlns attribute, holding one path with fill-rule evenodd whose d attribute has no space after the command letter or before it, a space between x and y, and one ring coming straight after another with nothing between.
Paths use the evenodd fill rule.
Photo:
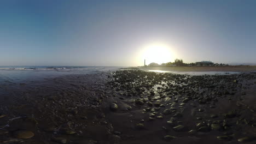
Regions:
<instances>
[{"instance_id":1,"label":"bluish sea with small white waves left of the pebbly shore","mask_svg":"<svg viewBox=\"0 0 256 144\"><path fill-rule=\"evenodd\" d=\"M1 66L0 83L2 82L22 82L22 81L42 81L71 74L95 74L100 71L117 70L119 67L61 67L61 66Z\"/></svg>"}]
</instances>

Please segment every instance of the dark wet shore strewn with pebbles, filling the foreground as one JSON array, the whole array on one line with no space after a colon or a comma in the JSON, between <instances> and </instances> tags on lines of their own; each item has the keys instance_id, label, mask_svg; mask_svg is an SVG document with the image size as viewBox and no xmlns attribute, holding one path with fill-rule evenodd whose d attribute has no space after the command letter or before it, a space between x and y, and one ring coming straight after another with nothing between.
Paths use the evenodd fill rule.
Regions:
<instances>
[{"instance_id":1,"label":"dark wet shore strewn with pebbles, filling the foreground","mask_svg":"<svg viewBox=\"0 0 256 144\"><path fill-rule=\"evenodd\" d=\"M256 73L133 69L0 88L1 143L256 142Z\"/></svg>"}]
</instances>

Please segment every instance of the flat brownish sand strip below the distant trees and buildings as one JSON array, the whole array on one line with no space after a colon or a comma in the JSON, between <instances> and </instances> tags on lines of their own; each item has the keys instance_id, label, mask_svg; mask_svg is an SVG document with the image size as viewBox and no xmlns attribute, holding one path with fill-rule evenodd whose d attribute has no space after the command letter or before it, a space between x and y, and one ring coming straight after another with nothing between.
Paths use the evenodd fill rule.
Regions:
<instances>
[{"instance_id":1,"label":"flat brownish sand strip below the distant trees and buildings","mask_svg":"<svg viewBox=\"0 0 256 144\"><path fill-rule=\"evenodd\" d=\"M205 67L139 67L143 70L162 70L162 71L234 71L234 72L255 72L256 66L205 66Z\"/></svg>"}]
</instances>

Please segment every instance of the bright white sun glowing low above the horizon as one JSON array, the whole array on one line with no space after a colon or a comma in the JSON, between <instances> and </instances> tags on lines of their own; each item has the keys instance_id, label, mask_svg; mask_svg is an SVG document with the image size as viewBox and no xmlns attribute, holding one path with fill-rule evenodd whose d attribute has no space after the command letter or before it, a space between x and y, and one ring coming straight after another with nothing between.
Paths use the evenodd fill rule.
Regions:
<instances>
[{"instance_id":1,"label":"bright white sun glowing low above the horizon","mask_svg":"<svg viewBox=\"0 0 256 144\"><path fill-rule=\"evenodd\" d=\"M149 44L144 47L143 58L146 59L146 64L162 64L173 60L173 52L167 44Z\"/></svg>"}]
</instances>

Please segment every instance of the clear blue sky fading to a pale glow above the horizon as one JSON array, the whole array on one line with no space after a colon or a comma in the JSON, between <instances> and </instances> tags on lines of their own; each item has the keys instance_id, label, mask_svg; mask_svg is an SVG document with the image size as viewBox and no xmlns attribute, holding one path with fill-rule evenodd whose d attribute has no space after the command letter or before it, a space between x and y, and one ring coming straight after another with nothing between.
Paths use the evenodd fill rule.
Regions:
<instances>
[{"instance_id":1,"label":"clear blue sky fading to a pale glow above the horizon","mask_svg":"<svg viewBox=\"0 0 256 144\"><path fill-rule=\"evenodd\" d=\"M3 0L0 65L138 66L152 47L157 58L171 62L256 63L255 5L250 0Z\"/></svg>"}]
</instances>

